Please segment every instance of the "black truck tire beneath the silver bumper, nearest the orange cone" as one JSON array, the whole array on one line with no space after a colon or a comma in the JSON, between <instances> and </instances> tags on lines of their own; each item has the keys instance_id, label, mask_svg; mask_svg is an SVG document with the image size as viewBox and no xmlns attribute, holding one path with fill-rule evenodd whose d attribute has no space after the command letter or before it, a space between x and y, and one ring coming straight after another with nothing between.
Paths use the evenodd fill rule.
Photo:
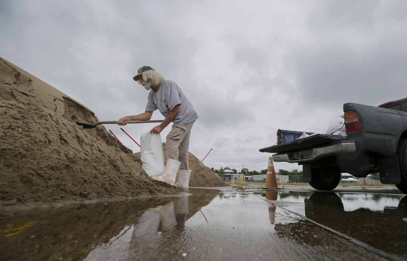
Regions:
<instances>
[{"instance_id":1,"label":"black truck tire beneath the silver bumper, nearest the orange cone","mask_svg":"<svg viewBox=\"0 0 407 261\"><path fill-rule=\"evenodd\" d=\"M309 185L314 189L332 190L341 181L341 172L336 168L311 168L311 182Z\"/></svg>"}]
</instances>

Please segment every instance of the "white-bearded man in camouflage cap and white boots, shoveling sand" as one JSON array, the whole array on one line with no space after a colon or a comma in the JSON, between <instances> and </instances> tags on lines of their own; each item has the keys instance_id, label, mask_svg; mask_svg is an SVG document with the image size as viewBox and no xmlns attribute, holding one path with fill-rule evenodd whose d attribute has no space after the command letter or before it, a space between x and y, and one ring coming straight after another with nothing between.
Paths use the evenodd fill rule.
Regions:
<instances>
[{"instance_id":1,"label":"white-bearded man in camouflage cap and white boots, shoveling sand","mask_svg":"<svg viewBox=\"0 0 407 261\"><path fill-rule=\"evenodd\" d=\"M178 189L188 189L191 170L188 166L188 148L191 128L198 114L190 101L176 83L165 80L164 77L150 66L138 69L133 77L147 91L147 107L144 113L126 116L120 119L119 125L126 125L130 120L150 120L153 111L159 110L165 120L151 129L150 133L160 134L173 122L172 129L166 137L167 164L165 172L160 176L152 176L157 181L164 181ZM175 177L179 169L178 182Z\"/></svg>"}]
</instances>

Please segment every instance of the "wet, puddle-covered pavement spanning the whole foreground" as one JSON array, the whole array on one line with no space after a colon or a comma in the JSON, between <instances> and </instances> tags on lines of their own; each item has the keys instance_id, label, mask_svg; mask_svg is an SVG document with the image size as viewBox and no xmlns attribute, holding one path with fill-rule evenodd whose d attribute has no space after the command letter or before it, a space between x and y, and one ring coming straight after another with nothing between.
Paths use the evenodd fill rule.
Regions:
<instances>
[{"instance_id":1,"label":"wet, puddle-covered pavement spanning the whole foreground","mask_svg":"<svg viewBox=\"0 0 407 261\"><path fill-rule=\"evenodd\" d=\"M407 260L403 194L191 188L0 208L0 260Z\"/></svg>"}]
</instances>

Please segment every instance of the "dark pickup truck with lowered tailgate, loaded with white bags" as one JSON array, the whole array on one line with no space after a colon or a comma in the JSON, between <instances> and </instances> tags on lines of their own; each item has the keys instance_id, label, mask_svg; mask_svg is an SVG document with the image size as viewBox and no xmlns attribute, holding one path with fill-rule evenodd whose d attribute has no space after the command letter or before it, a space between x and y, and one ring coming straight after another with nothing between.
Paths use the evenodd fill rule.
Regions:
<instances>
[{"instance_id":1,"label":"dark pickup truck with lowered tailgate, loaded with white bags","mask_svg":"<svg viewBox=\"0 0 407 261\"><path fill-rule=\"evenodd\" d=\"M277 144L260 152L276 162L302 165L304 182L314 189L335 189L341 173L358 178L379 172L380 182L407 194L407 98L377 107L344 104L346 135L277 131Z\"/></svg>"}]
</instances>

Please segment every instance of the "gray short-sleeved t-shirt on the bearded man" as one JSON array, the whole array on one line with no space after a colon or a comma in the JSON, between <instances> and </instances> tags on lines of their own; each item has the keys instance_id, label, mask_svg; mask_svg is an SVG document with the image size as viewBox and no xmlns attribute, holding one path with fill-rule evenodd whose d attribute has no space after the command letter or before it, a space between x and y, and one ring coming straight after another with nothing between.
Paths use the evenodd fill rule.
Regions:
<instances>
[{"instance_id":1,"label":"gray short-sleeved t-shirt on the bearded man","mask_svg":"<svg viewBox=\"0 0 407 261\"><path fill-rule=\"evenodd\" d=\"M146 111L158 109L164 117L167 117L175 105L179 105L179 113L173 120L174 125L187 124L198 118L191 102L172 80L161 81L158 91L151 89L147 100Z\"/></svg>"}]
</instances>

